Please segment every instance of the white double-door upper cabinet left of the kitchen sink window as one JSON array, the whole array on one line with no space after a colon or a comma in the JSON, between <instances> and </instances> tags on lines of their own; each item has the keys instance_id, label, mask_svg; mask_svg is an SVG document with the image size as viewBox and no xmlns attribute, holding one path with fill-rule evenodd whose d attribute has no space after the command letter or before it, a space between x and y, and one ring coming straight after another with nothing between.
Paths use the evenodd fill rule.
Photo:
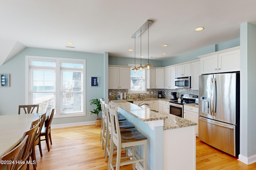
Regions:
<instances>
[{"instance_id":1,"label":"white double-door upper cabinet left of the kitchen sink window","mask_svg":"<svg viewBox=\"0 0 256 170\"><path fill-rule=\"evenodd\" d=\"M108 67L108 89L130 89L130 67Z\"/></svg>"}]
</instances>

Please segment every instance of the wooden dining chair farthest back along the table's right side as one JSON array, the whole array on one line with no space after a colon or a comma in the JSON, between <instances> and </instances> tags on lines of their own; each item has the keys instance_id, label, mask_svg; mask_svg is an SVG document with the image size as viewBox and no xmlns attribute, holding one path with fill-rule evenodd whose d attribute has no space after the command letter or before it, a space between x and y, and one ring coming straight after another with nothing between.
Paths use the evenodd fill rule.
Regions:
<instances>
[{"instance_id":1,"label":"wooden dining chair farthest back along the table's right side","mask_svg":"<svg viewBox=\"0 0 256 170\"><path fill-rule=\"evenodd\" d=\"M42 127L41 134L40 134L40 137L44 136L44 139L40 139L40 140L41 141L42 140L46 141L48 152L50 151L49 140L50 140L50 143L52 144L51 124L52 124L52 118L53 118L53 115L54 115L54 111L55 111L55 109L52 109L52 113L50 115L49 120L47 121L46 127Z\"/></svg>"}]
</instances>

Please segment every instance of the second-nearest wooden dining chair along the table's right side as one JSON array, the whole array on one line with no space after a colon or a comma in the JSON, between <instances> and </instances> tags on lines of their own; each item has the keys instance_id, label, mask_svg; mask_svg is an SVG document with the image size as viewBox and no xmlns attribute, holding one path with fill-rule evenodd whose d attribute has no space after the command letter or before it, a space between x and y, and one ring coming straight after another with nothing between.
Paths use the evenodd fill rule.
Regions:
<instances>
[{"instance_id":1,"label":"second-nearest wooden dining chair along the table's right side","mask_svg":"<svg viewBox=\"0 0 256 170\"><path fill-rule=\"evenodd\" d=\"M31 128L30 130L24 133L22 138L25 138L25 136L28 136L28 139L25 144L23 155L20 155L19 157L21 158L22 161L25 162L25 164L20 162L20 164L16 164L15 169L17 168L18 170L29 170L28 161L30 160L30 155L32 153L32 148L34 146L34 140L35 140L38 127L39 127L39 124L37 124L36 126L34 126L33 128Z\"/></svg>"}]
</instances>

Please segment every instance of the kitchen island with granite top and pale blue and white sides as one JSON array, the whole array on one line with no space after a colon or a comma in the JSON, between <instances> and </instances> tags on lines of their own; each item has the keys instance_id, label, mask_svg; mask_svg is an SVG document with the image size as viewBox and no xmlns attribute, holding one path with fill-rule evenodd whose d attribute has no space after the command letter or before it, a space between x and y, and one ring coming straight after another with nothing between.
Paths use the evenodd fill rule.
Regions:
<instances>
[{"instance_id":1,"label":"kitchen island with granite top and pale blue and white sides","mask_svg":"<svg viewBox=\"0 0 256 170\"><path fill-rule=\"evenodd\" d=\"M126 100L112 102L118 106L118 113L148 138L148 169L196 169L196 123ZM136 149L140 157L142 148ZM136 164L136 168L141 166Z\"/></svg>"}]
</instances>

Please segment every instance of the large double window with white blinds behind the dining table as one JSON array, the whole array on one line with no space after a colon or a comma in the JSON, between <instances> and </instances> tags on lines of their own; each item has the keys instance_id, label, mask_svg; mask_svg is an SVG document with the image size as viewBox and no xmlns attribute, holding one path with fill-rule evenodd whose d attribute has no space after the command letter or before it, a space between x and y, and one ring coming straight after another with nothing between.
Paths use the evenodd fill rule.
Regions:
<instances>
[{"instance_id":1,"label":"large double window with white blinds behind the dining table","mask_svg":"<svg viewBox=\"0 0 256 170\"><path fill-rule=\"evenodd\" d=\"M85 115L85 60L26 56L26 103L55 117Z\"/></svg>"}]
</instances>

